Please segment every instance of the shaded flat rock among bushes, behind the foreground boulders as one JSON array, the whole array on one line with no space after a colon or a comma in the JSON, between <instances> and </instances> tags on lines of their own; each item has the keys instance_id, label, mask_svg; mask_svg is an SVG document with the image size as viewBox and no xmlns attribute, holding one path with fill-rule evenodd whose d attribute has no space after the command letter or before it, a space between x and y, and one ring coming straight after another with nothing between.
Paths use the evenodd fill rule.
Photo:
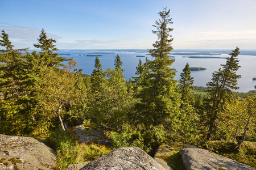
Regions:
<instances>
[{"instance_id":1,"label":"shaded flat rock among bushes, behind the foreground boulders","mask_svg":"<svg viewBox=\"0 0 256 170\"><path fill-rule=\"evenodd\" d=\"M96 125L90 125L90 127L78 125L75 126L73 130L80 142L94 142L100 145L112 146L111 142L105 137L104 133L102 133L102 130L99 130Z\"/></svg>"}]
</instances>

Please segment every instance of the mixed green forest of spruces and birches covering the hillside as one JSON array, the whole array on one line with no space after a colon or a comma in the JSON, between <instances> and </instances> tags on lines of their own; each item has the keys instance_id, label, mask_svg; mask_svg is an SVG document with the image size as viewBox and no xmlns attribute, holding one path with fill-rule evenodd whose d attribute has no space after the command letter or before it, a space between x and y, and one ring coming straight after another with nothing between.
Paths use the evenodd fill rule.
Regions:
<instances>
[{"instance_id":1,"label":"mixed green forest of spruces and birches covering the hillside","mask_svg":"<svg viewBox=\"0 0 256 170\"><path fill-rule=\"evenodd\" d=\"M58 55L56 41L44 29L34 44L40 52L32 53L15 49L2 30L1 134L48 139L57 150L61 169L124 146L138 146L152 155L161 143L174 147L174 155L185 145L195 145L256 168L256 95L233 92L241 76L237 74L239 48L214 71L207 87L193 86L189 63L177 81L171 67L175 58L169 57L173 50L170 10L164 8L159 17L152 31L158 39L148 50L153 59L139 60L136 76L128 82L118 55L113 70L102 70L96 56L92 74L85 75L72 58L63 63L67 58ZM77 143L68 129L80 124L101 125L113 147ZM75 159L78 151L67 154L79 147L97 147L98 152L90 151L80 160ZM168 162L182 169L177 159L179 155Z\"/></svg>"}]
</instances>

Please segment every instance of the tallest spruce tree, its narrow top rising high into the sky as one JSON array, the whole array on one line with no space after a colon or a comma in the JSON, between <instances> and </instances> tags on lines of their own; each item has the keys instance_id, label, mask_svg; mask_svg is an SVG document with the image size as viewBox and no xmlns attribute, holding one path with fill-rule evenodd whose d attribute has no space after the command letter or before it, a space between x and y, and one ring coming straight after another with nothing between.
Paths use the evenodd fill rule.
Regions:
<instances>
[{"instance_id":1,"label":"tallest spruce tree, its narrow top rising high into the sky","mask_svg":"<svg viewBox=\"0 0 256 170\"><path fill-rule=\"evenodd\" d=\"M169 57L173 40L170 35L172 28L168 28L168 24L172 24L170 10L164 8L159 15L160 19L153 25L156 31L152 31L158 40L153 44L155 49L148 50L154 60L147 63L148 73L142 81L136 108L146 127L168 123L172 129L177 129L180 95L174 80L176 73L171 68L174 59Z\"/></svg>"}]
</instances>

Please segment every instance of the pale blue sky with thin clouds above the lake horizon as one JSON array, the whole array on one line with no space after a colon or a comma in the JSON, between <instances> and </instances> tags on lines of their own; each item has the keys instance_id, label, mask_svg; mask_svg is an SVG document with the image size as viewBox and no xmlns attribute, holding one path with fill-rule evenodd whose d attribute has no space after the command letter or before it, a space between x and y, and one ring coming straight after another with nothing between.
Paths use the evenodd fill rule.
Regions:
<instances>
[{"instance_id":1,"label":"pale blue sky with thin clouds above the lake horizon","mask_svg":"<svg viewBox=\"0 0 256 170\"><path fill-rule=\"evenodd\" d=\"M0 0L0 30L16 49L42 28L59 49L152 49L164 7L174 49L256 49L256 0Z\"/></svg>"}]
</instances>

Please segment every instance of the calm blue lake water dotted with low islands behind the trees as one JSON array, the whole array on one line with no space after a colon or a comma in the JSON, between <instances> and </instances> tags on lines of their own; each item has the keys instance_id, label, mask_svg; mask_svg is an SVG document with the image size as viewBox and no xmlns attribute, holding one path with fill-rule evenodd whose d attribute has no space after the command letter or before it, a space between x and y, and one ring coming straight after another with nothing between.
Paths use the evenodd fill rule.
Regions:
<instances>
[{"instance_id":1,"label":"calm blue lake water dotted with low islands behind the trees","mask_svg":"<svg viewBox=\"0 0 256 170\"><path fill-rule=\"evenodd\" d=\"M191 71L191 76L194 77L193 85L206 86L206 84L211 81L212 73L217 71L221 67L220 65L226 62L225 58L229 57L228 53L230 52L231 50L174 50L171 56L175 57L175 62L171 67L177 70L175 79L180 79L180 73L188 62L190 67L204 67L207 69ZM255 90L254 86L256 85L256 80L252 80L252 78L256 77L256 50L240 50L240 52L241 54L238 56L238 60L240 60L239 65L241 67L237 74L241 74L242 78L238 79L238 87L240 87L238 91L248 92ZM139 59L141 59L142 62L145 61L146 57L151 59L151 56L147 55L147 50L59 50L58 53L60 56L66 58L73 57L78 63L78 68L82 69L82 73L84 74L92 74L94 69L95 56L89 57L86 55L97 55L98 58L100 58L102 69L106 70L108 68L114 68L114 58L118 54L123 62L122 68L125 69L123 75L126 80L129 80L131 76L135 76L134 73L136 66L138 66ZM188 58L191 56L221 58Z\"/></svg>"}]
</instances>

